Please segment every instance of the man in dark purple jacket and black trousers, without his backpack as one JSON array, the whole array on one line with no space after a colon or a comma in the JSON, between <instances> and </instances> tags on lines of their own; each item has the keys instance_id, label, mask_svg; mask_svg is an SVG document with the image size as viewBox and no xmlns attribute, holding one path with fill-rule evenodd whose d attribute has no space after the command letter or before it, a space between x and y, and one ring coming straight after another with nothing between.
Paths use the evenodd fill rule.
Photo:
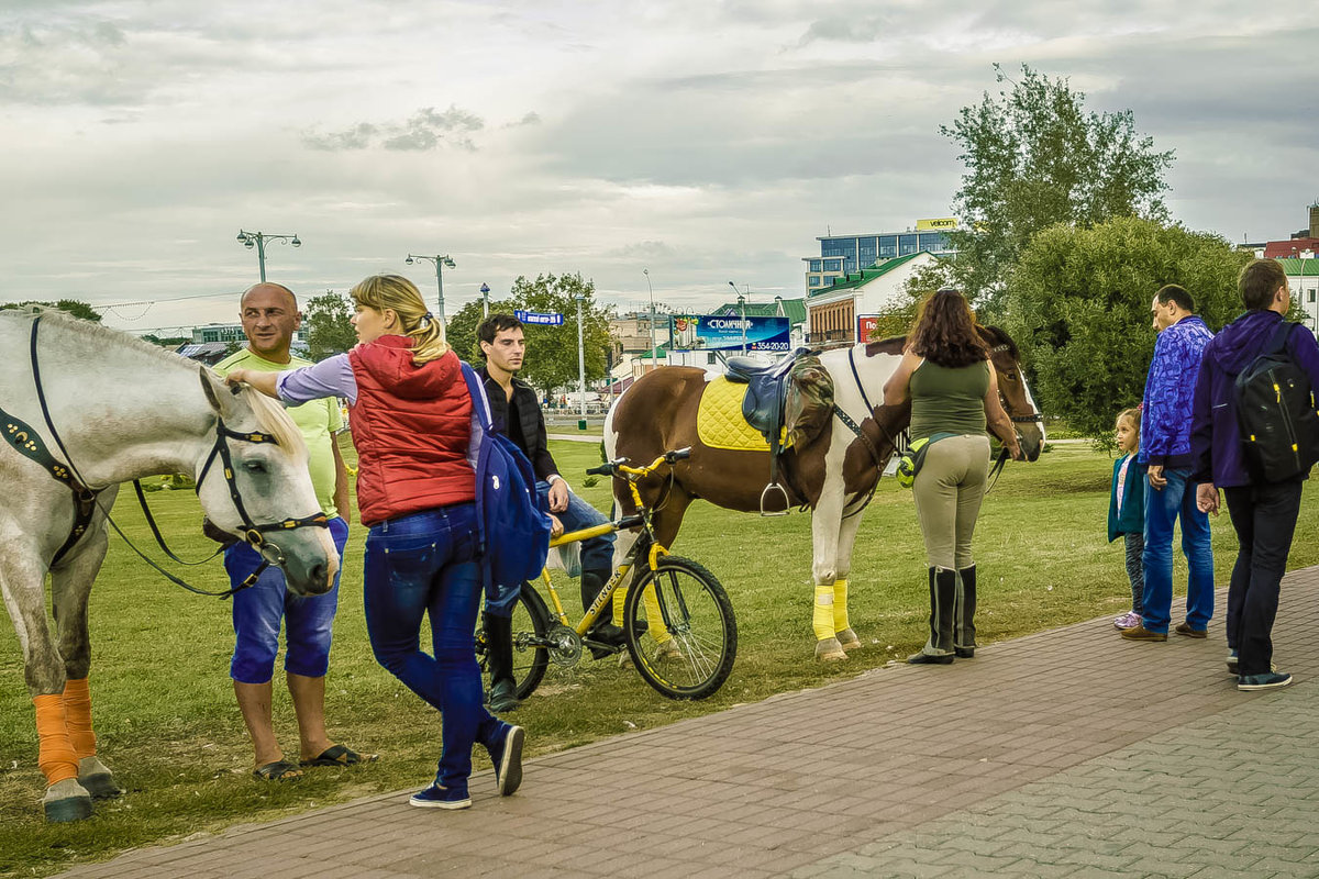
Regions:
<instances>
[{"instance_id":1,"label":"man in dark purple jacket and black trousers, without his backpack","mask_svg":"<svg viewBox=\"0 0 1319 879\"><path fill-rule=\"evenodd\" d=\"M1228 671L1237 689L1274 689L1291 675L1273 669L1273 618L1287 567L1291 536L1301 514L1302 473L1282 482L1254 478L1245 467L1236 412L1236 378L1264 353L1283 315L1291 308L1287 275L1275 260L1256 260L1237 283L1246 312L1223 328L1204 349L1195 386L1191 453L1198 502L1219 511L1219 492L1237 535L1237 560L1228 586ZM1303 327L1289 336L1283 351L1319 387L1319 344Z\"/></svg>"}]
</instances>

